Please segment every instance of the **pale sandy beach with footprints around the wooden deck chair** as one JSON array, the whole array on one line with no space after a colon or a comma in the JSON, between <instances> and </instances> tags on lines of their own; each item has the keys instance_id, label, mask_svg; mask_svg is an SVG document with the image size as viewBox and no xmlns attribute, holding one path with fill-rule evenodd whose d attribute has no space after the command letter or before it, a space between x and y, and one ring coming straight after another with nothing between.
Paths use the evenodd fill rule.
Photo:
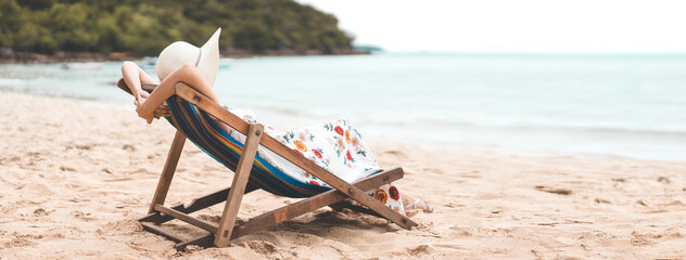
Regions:
<instances>
[{"instance_id":1,"label":"pale sandy beach with footprints around the wooden deck chair","mask_svg":"<svg viewBox=\"0 0 686 260\"><path fill-rule=\"evenodd\" d=\"M405 192L435 205L417 229L322 208L191 247L142 231L174 136L134 109L0 92L0 259L684 259L686 161L436 150L368 140ZM230 184L186 144L167 204ZM295 202L244 197L247 219ZM199 216L217 221L215 206ZM176 224L176 223L175 223Z\"/></svg>"}]
</instances>

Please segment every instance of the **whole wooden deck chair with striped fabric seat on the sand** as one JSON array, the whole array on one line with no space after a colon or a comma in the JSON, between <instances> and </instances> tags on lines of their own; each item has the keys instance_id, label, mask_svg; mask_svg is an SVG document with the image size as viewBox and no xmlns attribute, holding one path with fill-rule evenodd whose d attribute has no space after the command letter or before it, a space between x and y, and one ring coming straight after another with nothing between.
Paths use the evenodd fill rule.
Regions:
<instances>
[{"instance_id":1,"label":"whole wooden deck chair with striped fabric seat on the sand","mask_svg":"<svg viewBox=\"0 0 686 260\"><path fill-rule=\"evenodd\" d=\"M117 87L129 94L131 93L123 79L119 79ZM149 92L153 88L154 86L143 86L143 89ZM346 198L358 202L367 207L367 211L385 218L404 229L409 230L411 226L417 225L407 217L392 210L367 194L367 192L381 185L402 179L404 174L402 168L393 168L372 174L356 183L347 183L298 155L276 139L264 134L262 125L249 123L242 120L194 90L191 86L181 82L175 86L175 95L167 100L172 114L170 117L167 117L167 120L177 131L174 141L172 141L172 147L162 170L148 216L140 218L138 221L144 230L176 242L176 249L180 250L189 245L226 247L230 239L264 230L325 206L333 206ZM219 128L211 116L245 134L244 145ZM164 206L164 200L172 184L174 171L179 161L186 139L189 139L211 157L232 170L234 172L233 181L230 187L198 197L188 206L181 204L166 207ZM259 157L256 153L259 145L319 178L333 188L301 183L284 174ZM257 188L281 196L305 198L253 217L244 224L237 224L237 214L243 194ZM226 204L218 225L190 216L194 211L225 200ZM207 233L200 237L186 239L182 235L161 227L162 223L174 219L198 226L207 231Z\"/></svg>"}]
</instances>

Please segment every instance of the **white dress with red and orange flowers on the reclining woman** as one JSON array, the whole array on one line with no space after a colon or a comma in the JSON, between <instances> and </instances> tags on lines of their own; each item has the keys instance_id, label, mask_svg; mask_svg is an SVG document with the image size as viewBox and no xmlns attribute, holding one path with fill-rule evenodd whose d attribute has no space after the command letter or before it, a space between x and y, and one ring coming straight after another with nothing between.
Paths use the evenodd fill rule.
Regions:
<instances>
[{"instance_id":1,"label":"white dress with red and orange flowers on the reclining woman","mask_svg":"<svg viewBox=\"0 0 686 260\"><path fill-rule=\"evenodd\" d=\"M226 106L225 108L247 122L258 122L255 114L250 110ZM366 179L381 170L359 132L346 119L288 132L265 126L265 133L348 183ZM245 143L245 135L239 131L230 129L229 134L239 142ZM317 177L267 148L259 147L257 153L283 173L304 183L329 186ZM399 191L393 183L381 186L370 195L389 208L405 214Z\"/></svg>"}]
</instances>

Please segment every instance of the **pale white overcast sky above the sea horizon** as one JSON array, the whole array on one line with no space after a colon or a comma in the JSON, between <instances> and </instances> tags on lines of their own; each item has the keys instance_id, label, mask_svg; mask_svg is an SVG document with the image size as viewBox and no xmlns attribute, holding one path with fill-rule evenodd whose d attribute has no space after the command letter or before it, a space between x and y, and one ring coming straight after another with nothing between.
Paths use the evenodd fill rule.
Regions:
<instances>
[{"instance_id":1,"label":"pale white overcast sky above the sea horizon","mask_svg":"<svg viewBox=\"0 0 686 260\"><path fill-rule=\"evenodd\" d=\"M686 53L684 0L296 0L391 52Z\"/></svg>"}]
</instances>

